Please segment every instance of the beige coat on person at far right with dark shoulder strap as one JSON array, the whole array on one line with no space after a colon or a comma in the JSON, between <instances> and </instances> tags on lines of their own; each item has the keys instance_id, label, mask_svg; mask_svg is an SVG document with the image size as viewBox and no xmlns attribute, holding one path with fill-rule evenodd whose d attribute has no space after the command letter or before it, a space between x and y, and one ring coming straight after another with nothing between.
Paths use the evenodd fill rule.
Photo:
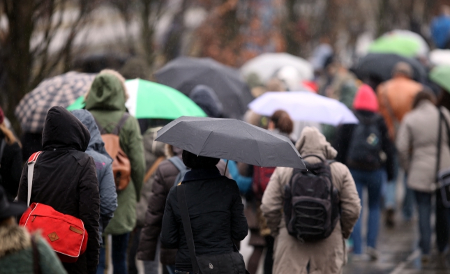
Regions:
<instances>
[{"instance_id":1,"label":"beige coat on person at far right with dark shoulder strap","mask_svg":"<svg viewBox=\"0 0 450 274\"><path fill-rule=\"evenodd\" d=\"M450 121L449 111L441 107ZM398 129L396 146L400 165L407 171L407 184L413 190L433 192L436 189L437 131L439 111L432 102L423 100L405 118ZM442 122L440 168L450 167L447 130Z\"/></svg>"}]
</instances>

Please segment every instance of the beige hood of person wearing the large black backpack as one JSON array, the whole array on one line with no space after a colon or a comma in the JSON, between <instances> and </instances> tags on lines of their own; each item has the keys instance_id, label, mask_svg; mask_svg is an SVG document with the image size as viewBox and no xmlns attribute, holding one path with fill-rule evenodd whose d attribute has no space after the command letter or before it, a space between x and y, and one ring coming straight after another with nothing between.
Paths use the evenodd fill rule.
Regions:
<instances>
[{"instance_id":1,"label":"beige hood of person wearing the large black backpack","mask_svg":"<svg viewBox=\"0 0 450 274\"><path fill-rule=\"evenodd\" d=\"M332 160L338 155L336 149L333 149L333 146L327 142L325 136L317 128L308 126L303 128L300 139L295 144L295 147L302 158L306 155L313 154L322 156L327 160Z\"/></svg>"}]
</instances>

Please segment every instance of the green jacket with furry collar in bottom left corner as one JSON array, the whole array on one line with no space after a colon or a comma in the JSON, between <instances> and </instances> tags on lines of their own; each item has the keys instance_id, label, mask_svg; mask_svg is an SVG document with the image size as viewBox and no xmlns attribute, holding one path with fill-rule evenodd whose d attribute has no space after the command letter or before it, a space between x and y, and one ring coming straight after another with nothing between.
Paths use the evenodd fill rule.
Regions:
<instances>
[{"instance_id":1,"label":"green jacket with furry collar in bottom left corner","mask_svg":"<svg viewBox=\"0 0 450 274\"><path fill-rule=\"evenodd\" d=\"M35 239L39 253L40 272L67 274L50 245L40 236L36 236ZM0 243L0 273L33 274L31 237L23 227L1 226Z\"/></svg>"}]
</instances>

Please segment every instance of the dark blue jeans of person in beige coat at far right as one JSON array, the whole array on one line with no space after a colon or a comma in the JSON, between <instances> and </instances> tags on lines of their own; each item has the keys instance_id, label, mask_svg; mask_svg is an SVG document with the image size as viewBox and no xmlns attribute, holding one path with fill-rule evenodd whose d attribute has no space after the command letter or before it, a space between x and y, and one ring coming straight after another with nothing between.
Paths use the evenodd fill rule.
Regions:
<instances>
[{"instance_id":1,"label":"dark blue jeans of person in beige coat at far right","mask_svg":"<svg viewBox=\"0 0 450 274\"><path fill-rule=\"evenodd\" d=\"M422 254L430 254L431 250L431 199L433 193L414 191L419 211L419 248ZM436 196L436 242L439 252L443 252L447 248L449 242L449 208L444 208L441 203L440 193Z\"/></svg>"}]
</instances>

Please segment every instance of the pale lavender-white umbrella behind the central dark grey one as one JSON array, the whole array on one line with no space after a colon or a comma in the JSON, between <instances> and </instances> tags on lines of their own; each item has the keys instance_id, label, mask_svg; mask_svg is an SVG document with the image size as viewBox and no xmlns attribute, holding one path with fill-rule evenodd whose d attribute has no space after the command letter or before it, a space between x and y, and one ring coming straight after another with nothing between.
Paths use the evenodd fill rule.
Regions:
<instances>
[{"instance_id":1,"label":"pale lavender-white umbrella behind the central dark grey one","mask_svg":"<svg viewBox=\"0 0 450 274\"><path fill-rule=\"evenodd\" d=\"M283 109L297 121L329 125L358 123L357 117L342 102L309 91L267 92L250 102L248 107L264 116Z\"/></svg>"}]
</instances>

